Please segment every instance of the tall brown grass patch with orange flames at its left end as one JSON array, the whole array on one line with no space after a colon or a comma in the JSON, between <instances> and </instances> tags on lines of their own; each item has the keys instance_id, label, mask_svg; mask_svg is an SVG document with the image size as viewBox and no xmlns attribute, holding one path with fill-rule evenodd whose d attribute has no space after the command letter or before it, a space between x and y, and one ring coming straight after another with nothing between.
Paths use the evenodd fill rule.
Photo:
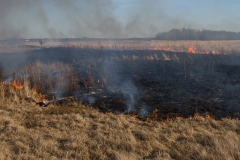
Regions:
<instances>
[{"instance_id":1,"label":"tall brown grass patch with orange flames at its left end","mask_svg":"<svg viewBox=\"0 0 240 160\"><path fill-rule=\"evenodd\" d=\"M73 68L62 62L24 65L12 76L0 75L0 100L16 103L37 102L43 95L61 98L79 88Z\"/></svg>"}]
</instances>

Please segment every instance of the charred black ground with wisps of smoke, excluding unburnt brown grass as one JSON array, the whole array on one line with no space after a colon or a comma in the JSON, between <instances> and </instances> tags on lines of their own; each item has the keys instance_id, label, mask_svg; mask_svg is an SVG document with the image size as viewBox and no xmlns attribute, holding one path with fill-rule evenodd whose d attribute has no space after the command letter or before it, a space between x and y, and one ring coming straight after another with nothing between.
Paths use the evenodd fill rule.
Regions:
<instances>
[{"instance_id":1,"label":"charred black ground with wisps of smoke, excluding unburnt brown grass","mask_svg":"<svg viewBox=\"0 0 240 160\"><path fill-rule=\"evenodd\" d=\"M147 58L151 55L158 58ZM64 96L75 96L103 112L137 112L146 117L156 111L163 118L199 112L215 118L240 118L239 55L58 47L1 53L0 58L6 77L36 61L70 64L80 87L66 89ZM87 87L83 85L91 79Z\"/></svg>"}]
</instances>

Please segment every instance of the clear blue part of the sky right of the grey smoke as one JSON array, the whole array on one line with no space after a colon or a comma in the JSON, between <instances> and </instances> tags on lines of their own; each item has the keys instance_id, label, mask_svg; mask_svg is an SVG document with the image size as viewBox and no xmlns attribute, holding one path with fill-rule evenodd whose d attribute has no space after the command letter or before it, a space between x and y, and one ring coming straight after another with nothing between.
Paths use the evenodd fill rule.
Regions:
<instances>
[{"instance_id":1,"label":"clear blue part of the sky right of the grey smoke","mask_svg":"<svg viewBox=\"0 0 240 160\"><path fill-rule=\"evenodd\" d=\"M115 0L117 13L134 13L137 8L148 8L149 18L154 17L152 23L167 30L161 22L173 24L173 28L192 27L196 29L213 29L240 31L240 1L238 0L149 0L142 5L138 0ZM161 15L165 18L161 19ZM122 17L123 19L126 17ZM149 20L150 22L150 20ZM168 26L168 24L166 24Z\"/></svg>"}]
</instances>

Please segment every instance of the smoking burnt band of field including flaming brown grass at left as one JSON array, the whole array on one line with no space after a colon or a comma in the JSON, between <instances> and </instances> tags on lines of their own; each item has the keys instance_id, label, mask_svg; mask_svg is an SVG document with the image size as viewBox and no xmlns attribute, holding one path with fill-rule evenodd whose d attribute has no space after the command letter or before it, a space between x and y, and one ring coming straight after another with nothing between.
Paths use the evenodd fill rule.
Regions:
<instances>
[{"instance_id":1,"label":"smoking burnt band of field including flaming brown grass at left","mask_svg":"<svg viewBox=\"0 0 240 160\"><path fill-rule=\"evenodd\" d=\"M14 55L24 62L2 72L2 99L47 106L73 97L143 119L155 110L158 119L188 118L197 110L203 117L240 118L239 55L43 48L1 56L10 61Z\"/></svg>"}]
</instances>

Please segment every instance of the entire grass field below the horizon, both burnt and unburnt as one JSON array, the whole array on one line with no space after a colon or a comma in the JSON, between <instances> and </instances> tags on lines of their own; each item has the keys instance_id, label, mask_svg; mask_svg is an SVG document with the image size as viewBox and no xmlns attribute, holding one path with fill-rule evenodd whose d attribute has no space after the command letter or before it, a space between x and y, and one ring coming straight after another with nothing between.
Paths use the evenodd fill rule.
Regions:
<instances>
[{"instance_id":1,"label":"entire grass field below the horizon, both burnt and unburnt","mask_svg":"<svg viewBox=\"0 0 240 160\"><path fill-rule=\"evenodd\" d=\"M196 53L238 54L239 43L59 41L45 42L41 48L38 41L1 42L1 57L6 58L1 65L7 62L5 68L0 68L0 159L240 159L240 121L236 118L240 115L239 56L147 51L189 52L192 46ZM71 50L70 47L87 49ZM119 51L114 52L114 56L119 55L111 57L112 51L104 49L146 51ZM6 74L4 69L11 59L13 63L19 60L21 67L15 65L17 69ZM140 66L147 68L142 70ZM129 79L120 76L123 71L122 75ZM155 79L159 73L163 75L161 81ZM114 91L114 87L108 88L116 79L127 80L124 89L120 88L121 93ZM132 93L132 89L139 93ZM49 96L54 93L55 97L49 101L44 93ZM135 100L134 94L138 103L131 101ZM103 98L91 104L93 96ZM87 104L83 103L84 97ZM46 106L45 101L49 102ZM148 118L139 118L136 113L122 110L128 103L137 108L142 102L148 102L148 107L155 105L159 112L181 111L184 116L167 117L164 112L165 118L161 118L149 110ZM215 105L216 110L209 104ZM204 113L233 112L235 117L216 120L211 115L201 116L197 110L190 117L191 112L181 110L184 105L192 106L193 111L198 105ZM106 108L100 108L104 106Z\"/></svg>"}]
</instances>

